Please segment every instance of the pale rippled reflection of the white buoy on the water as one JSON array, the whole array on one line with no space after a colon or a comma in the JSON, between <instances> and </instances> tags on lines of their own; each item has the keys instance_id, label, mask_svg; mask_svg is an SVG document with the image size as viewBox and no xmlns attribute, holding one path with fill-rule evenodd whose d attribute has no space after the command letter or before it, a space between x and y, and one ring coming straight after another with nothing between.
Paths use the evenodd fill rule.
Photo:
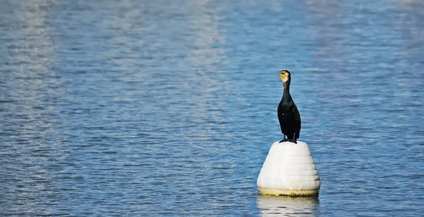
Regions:
<instances>
[{"instance_id":1,"label":"pale rippled reflection of the white buoy on the water","mask_svg":"<svg viewBox=\"0 0 424 217\"><path fill-rule=\"evenodd\" d=\"M319 199L258 196L261 216L317 216Z\"/></svg>"}]
</instances>

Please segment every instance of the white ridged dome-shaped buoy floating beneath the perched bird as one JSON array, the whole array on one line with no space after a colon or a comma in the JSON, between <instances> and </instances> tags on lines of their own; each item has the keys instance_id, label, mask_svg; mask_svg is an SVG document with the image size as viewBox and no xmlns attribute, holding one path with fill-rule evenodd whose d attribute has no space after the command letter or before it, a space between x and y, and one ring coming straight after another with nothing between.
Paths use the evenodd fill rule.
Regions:
<instances>
[{"instance_id":1,"label":"white ridged dome-shaped buoy floating beneath the perched bird","mask_svg":"<svg viewBox=\"0 0 424 217\"><path fill-rule=\"evenodd\" d=\"M261 194L318 197L321 181L307 143L273 143L257 186Z\"/></svg>"}]
</instances>

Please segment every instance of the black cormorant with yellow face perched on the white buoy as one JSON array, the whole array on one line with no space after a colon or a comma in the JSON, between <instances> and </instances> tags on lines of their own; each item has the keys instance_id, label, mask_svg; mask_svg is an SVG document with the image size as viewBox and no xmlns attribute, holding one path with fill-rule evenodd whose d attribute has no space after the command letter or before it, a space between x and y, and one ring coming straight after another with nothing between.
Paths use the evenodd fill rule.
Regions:
<instances>
[{"instance_id":1,"label":"black cormorant with yellow face perched on the white buoy","mask_svg":"<svg viewBox=\"0 0 424 217\"><path fill-rule=\"evenodd\" d=\"M301 121L298 107L290 95L290 71L281 70L278 72L281 73L280 78L284 87L283 98L281 98L277 109L278 121L280 122L281 133L283 133L283 140L280 143L284 141L297 143L300 136ZM287 136L287 139L285 136Z\"/></svg>"}]
</instances>

